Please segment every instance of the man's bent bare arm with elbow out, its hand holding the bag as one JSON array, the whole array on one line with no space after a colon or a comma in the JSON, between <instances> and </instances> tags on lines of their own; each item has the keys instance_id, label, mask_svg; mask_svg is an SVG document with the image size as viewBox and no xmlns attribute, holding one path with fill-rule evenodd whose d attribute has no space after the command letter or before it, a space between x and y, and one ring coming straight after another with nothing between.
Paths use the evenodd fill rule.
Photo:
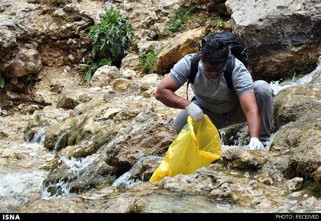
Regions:
<instances>
[{"instance_id":1,"label":"man's bent bare arm with elbow out, its hand holding the bag","mask_svg":"<svg viewBox=\"0 0 321 221\"><path fill-rule=\"evenodd\" d=\"M167 75L157 88L155 97L167 107L185 109L191 103L191 101L176 95L174 92L178 88L180 88L180 86L173 82L169 75Z\"/></svg>"}]
</instances>

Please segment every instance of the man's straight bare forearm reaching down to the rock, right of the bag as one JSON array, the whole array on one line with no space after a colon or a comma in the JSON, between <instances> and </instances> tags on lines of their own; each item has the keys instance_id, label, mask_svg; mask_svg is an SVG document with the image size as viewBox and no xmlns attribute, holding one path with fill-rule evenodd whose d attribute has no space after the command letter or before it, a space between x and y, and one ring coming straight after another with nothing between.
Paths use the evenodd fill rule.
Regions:
<instances>
[{"instance_id":1,"label":"man's straight bare forearm reaching down to the rock, right of the bag","mask_svg":"<svg viewBox=\"0 0 321 221\"><path fill-rule=\"evenodd\" d=\"M246 117L250 137L260 136L261 121L254 92L248 92L239 97L242 111Z\"/></svg>"}]
</instances>

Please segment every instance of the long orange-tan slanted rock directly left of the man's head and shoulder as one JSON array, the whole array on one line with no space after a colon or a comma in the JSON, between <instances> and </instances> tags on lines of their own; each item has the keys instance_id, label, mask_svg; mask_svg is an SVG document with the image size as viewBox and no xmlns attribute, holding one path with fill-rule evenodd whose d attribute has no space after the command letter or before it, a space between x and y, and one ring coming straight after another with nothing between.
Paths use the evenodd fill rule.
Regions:
<instances>
[{"instance_id":1,"label":"long orange-tan slanted rock directly left of the man's head and shoulder","mask_svg":"<svg viewBox=\"0 0 321 221\"><path fill-rule=\"evenodd\" d=\"M171 40L156 58L157 72L166 74L186 54L197 52L197 42L203 37L203 32L203 28L193 29Z\"/></svg>"}]
</instances>

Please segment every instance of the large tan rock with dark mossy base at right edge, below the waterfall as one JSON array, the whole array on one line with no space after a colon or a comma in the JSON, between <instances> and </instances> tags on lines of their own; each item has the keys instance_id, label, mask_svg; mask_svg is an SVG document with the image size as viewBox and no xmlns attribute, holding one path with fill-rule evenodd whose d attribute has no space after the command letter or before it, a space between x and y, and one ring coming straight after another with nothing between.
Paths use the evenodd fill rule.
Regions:
<instances>
[{"instance_id":1,"label":"large tan rock with dark mossy base at right edge, below the waterfall","mask_svg":"<svg viewBox=\"0 0 321 221\"><path fill-rule=\"evenodd\" d=\"M286 177L312 179L321 165L321 116L310 117L282 126L271 143L270 150L288 157Z\"/></svg>"}]
</instances>

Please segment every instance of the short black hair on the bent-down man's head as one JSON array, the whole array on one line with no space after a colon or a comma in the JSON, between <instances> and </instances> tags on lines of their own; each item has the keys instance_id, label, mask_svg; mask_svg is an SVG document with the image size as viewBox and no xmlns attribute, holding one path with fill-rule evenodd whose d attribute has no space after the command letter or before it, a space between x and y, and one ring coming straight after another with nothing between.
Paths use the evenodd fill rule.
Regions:
<instances>
[{"instance_id":1,"label":"short black hair on the bent-down man's head","mask_svg":"<svg viewBox=\"0 0 321 221\"><path fill-rule=\"evenodd\" d=\"M229 47L221 40L205 38L202 41L201 56L205 64L223 66L229 58Z\"/></svg>"}]
</instances>

